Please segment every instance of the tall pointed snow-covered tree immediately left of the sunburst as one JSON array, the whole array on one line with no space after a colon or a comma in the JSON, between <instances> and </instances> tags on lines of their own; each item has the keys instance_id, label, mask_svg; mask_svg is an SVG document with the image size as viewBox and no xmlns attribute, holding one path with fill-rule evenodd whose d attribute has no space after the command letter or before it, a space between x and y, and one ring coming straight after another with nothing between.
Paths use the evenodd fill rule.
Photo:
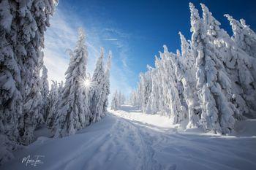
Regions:
<instances>
[{"instance_id":1,"label":"tall pointed snow-covered tree immediately left of the sunburst","mask_svg":"<svg viewBox=\"0 0 256 170\"><path fill-rule=\"evenodd\" d=\"M78 30L78 42L72 51L69 67L66 72L66 81L62 90L61 99L56 115L55 137L75 134L75 131L89 124L89 109L85 104L86 91L84 77L88 58L83 29Z\"/></svg>"}]
</instances>

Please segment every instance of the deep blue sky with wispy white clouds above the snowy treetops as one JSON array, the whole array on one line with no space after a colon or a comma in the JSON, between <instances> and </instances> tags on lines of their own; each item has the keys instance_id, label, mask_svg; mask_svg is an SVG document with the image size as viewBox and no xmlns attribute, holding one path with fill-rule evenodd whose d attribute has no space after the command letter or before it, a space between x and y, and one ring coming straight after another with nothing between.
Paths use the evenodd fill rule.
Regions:
<instances>
[{"instance_id":1,"label":"deep blue sky with wispy white clouds above the snowy treetops","mask_svg":"<svg viewBox=\"0 0 256 170\"><path fill-rule=\"evenodd\" d=\"M197 9L200 2L222 23L231 34L224 14L244 18L256 28L256 1L206 0L192 1ZM111 91L128 94L135 88L138 74L146 71L146 65L154 65L154 55L162 45L175 52L180 48L178 31L190 38L189 1L64 1L59 0L51 26L45 34L45 65L50 80L64 80L69 63L66 49L72 49L77 39L78 27L87 34L89 47L89 72L92 73L99 48L113 52Z\"/></svg>"}]
</instances>

